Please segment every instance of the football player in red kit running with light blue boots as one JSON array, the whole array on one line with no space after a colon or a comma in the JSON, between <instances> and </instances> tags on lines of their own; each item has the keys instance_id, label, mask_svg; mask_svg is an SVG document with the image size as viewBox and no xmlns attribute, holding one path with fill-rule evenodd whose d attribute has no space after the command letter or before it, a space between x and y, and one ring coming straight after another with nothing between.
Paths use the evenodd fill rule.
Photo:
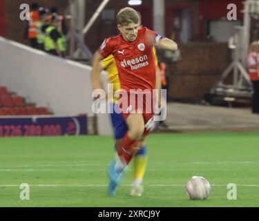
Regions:
<instances>
[{"instance_id":1,"label":"football player in red kit running with light blue boots","mask_svg":"<svg viewBox=\"0 0 259 221\"><path fill-rule=\"evenodd\" d=\"M178 48L171 39L157 35L148 28L140 28L140 16L133 8L122 8L118 12L117 28L121 34L105 39L95 52L91 72L94 92L103 89L101 61L108 55L114 56L121 85L120 111L128 126L122 142L116 145L119 158L109 168L109 195L115 195L122 175L137 151L135 146L144 144L153 119L156 72L153 45L164 50Z\"/></svg>"}]
</instances>

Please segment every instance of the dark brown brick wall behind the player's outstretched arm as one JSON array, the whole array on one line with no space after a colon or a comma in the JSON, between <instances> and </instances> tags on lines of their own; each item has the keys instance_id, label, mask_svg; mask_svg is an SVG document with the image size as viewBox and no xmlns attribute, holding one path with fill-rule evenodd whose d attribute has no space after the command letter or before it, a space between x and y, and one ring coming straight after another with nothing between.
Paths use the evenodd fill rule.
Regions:
<instances>
[{"instance_id":1,"label":"dark brown brick wall behind the player's outstretched arm","mask_svg":"<svg viewBox=\"0 0 259 221\"><path fill-rule=\"evenodd\" d=\"M182 59L168 65L169 98L200 100L231 64L227 43L180 44Z\"/></svg>"}]
</instances>

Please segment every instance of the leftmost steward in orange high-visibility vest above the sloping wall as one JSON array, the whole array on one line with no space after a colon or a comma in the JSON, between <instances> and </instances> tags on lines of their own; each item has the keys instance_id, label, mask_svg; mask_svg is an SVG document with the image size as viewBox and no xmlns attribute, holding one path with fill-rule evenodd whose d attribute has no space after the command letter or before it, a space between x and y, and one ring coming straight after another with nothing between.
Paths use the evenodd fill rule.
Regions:
<instances>
[{"instance_id":1,"label":"leftmost steward in orange high-visibility vest above the sloping wall","mask_svg":"<svg viewBox=\"0 0 259 221\"><path fill-rule=\"evenodd\" d=\"M39 5L32 3L30 5L30 20L26 23L26 38L30 41L32 48L39 48L37 44L37 26L39 26Z\"/></svg>"}]
</instances>

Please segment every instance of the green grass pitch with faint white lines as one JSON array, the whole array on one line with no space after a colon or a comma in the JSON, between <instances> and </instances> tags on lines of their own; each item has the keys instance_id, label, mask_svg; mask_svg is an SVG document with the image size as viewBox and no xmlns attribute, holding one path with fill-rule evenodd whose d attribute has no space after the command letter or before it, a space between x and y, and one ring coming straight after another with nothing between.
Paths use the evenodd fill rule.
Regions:
<instances>
[{"instance_id":1,"label":"green grass pitch with faint white lines","mask_svg":"<svg viewBox=\"0 0 259 221\"><path fill-rule=\"evenodd\" d=\"M111 136L0 139L0 206L259 206L259 132L177 133L148 137L144 195L129 195L133 171L106 195ZM211 184L207 200L188 200L193 175ZM20 200L20 184L30 200ZM227 184L237 185L228 200Z\"/></svg>"}]
</instances>

